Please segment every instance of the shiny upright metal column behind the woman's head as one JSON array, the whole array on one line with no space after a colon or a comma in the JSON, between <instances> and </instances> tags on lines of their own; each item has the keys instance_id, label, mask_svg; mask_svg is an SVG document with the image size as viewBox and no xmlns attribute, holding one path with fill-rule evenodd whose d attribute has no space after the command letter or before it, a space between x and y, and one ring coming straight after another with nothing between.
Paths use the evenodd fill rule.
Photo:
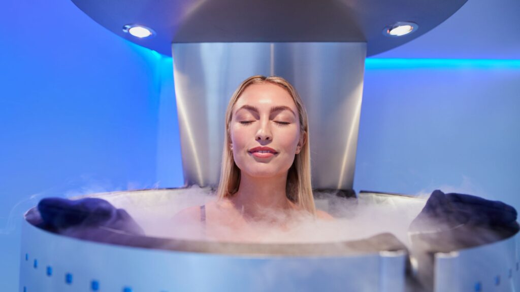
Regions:
<instances>
[{"instance_id":1,"label":"shiny upright metal column behind the woman's head","mask_svg":"<svg viewBox=\"0 0 520 292\"><path fill-rule=\"evenodd\" d=\"M184 178L217 185L224 116L233 91L252 75L296 87L309 117L314 188L352 189L365 43L173 44Z\"/></svg>"}]
</instances>

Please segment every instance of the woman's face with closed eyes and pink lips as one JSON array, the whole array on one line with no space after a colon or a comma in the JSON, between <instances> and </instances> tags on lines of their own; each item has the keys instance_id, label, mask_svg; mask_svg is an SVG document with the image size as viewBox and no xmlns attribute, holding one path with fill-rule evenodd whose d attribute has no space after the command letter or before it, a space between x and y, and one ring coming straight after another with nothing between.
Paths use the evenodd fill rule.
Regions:
<instances>
[{"instance_id":1,"label":"woman's face with closed eyes and pink lips","mask_svg":"<svg viewBox=\"0 0 520 292\"><path fill-rule=\"evenodd\" d=\"M252 177L286 175L304 142L296 104L285 89L270 83L242 92L229 131L235 163Z\"/></svg>"}]
</instances>

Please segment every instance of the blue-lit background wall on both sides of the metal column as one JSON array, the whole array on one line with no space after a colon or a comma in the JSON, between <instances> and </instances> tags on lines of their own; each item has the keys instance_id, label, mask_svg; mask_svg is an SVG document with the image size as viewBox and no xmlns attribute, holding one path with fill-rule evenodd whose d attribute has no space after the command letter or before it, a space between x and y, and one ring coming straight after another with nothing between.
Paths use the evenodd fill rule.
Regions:
<instances>
[{"instance_id":1,"label":"blue-lit background wall on both sides of the metal column","mask_svg":"<svg viewBox=\"0 0 520 292\"><path fill-rule=\"evenodd\" d=\"M0 17L0 291L13 291L21 216L40 198L183 177L171 58L70 1L4 0ZM367 60L355 189L520 208L518 62Z\"/></svg>"}]
</instances>

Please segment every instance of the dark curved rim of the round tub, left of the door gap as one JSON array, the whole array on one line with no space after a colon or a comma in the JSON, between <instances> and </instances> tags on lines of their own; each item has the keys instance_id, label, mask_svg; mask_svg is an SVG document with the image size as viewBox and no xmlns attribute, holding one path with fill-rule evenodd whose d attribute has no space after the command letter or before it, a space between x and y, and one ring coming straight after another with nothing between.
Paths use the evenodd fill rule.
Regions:
<instances>
[{"instance_id":1,"label":"dark curved rim of the round tub, left of the door gap","mask_svg":"<svg viewBox=\"0 0 520 292\"><path fill-rule=\"evenodd\" d=\"M102 197L103 195L116 193L131 193L142 191L168 191L182 190L189 187L140 189L129 191L99 192L80 196L73 199L85 197ZM201 188L210 190L211 188ZM95 242L100 244L111 244L125 247L148 248L157 250L181 251L188 253L236 255L236 256L284 256L284 257L337 257L337 256L363 256L367 254L379 254L380 252L398 252L408 254L407 247L391 233L380 233L374 236L353 241L335 241L318 243L243 243L222 241L199 241L180 238L154 237L130 234L124 231L96 227L93 231L105 236L96 240L87 236L70 236L49 231L38 226L40 214L37 206L32 207L24 214L24 220L35 228L42 231L75 238L77 240Z\"/></svg>"}]
</instances>

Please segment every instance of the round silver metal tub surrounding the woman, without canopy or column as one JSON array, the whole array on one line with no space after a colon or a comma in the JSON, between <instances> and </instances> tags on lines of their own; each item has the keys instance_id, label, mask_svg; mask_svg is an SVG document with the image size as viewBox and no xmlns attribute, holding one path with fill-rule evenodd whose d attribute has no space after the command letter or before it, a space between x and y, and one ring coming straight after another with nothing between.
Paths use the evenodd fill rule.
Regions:
<instances>
[{"instance_id":1,"label":"round silver metal tub surrounding the woman, without canopy or column","mask_svg":"<svg viewBox=\"0 0 520 292\"><path fill-rule=\"evenodd\" d=\"M189 202L186 198L193 197L193 193L184 190L112 192L88 197L106 199L130 214L142 213L136 218L146 218L152 212L161 214L156 207L185 208ZM200 199L204 197L190 204L203 203ZM392 213L399 210L397 206L416 209L421 204L418 200L362 193L358 203L381 205ZM172 208L173 202L178 206ZM35 227L30 219L34 209L28 211L22 223L19 291L87 292L95 291L94 282L100 291L152 292L513 292L520 288L520 234L491 244L435 254L431 264L434 289L423 289L414 285L417 274L409 271L404 246L392 241L385 243L392 236L384 234L341 243L248 244L140 235L135 236L139 237L136 241L114 231L117 242L108 242L105 237L93 241Z\"/></svg>"}]
</instances>

